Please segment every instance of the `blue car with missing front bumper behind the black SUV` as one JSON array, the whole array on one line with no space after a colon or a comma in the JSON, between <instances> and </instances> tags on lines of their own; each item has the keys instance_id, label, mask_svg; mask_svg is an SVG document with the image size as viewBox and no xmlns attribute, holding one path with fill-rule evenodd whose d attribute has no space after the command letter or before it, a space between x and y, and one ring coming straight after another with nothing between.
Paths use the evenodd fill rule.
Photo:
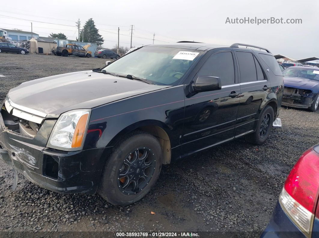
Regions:
<instances>
[{"instance_id":1,"label":"blue car with missing front bumper behind the black SUV","mask_svg":"<svg viewBox=\"0 0 319 238\"><path fill-rule=\"evenodd\" d=\"M315 112L319 105L319 68L289 67L282 74L285 88L281 105Z\"/></svg>"}]
</instances>

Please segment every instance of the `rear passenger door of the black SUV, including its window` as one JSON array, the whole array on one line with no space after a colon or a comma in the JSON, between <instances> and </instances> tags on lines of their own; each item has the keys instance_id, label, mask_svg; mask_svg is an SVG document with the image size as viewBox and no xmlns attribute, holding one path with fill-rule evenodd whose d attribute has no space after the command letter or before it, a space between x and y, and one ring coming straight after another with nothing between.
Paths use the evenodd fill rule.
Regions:
<instances>
[{"instance_id":1,"label":"rear passenger door of the black SUV, including its window","mask_svg":"<svg viewBox=\"0 0 319 238\"><path fill-rule=\"evenodd\" d=\"M235 130L235 137L239 137L255 130L259 119L259 110L270 92L270 83L265 69L252 51L238 50L235 52L241 88Z\"/></svg>"}]
</instances>

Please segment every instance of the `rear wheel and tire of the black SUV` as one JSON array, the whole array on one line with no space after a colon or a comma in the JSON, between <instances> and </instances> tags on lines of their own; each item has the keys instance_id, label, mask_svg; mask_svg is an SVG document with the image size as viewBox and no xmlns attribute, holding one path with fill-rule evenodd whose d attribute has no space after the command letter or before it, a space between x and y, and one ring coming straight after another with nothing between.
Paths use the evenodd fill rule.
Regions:
<instances>
[{"instance_id":1,"label":"rear wheel and tire of the black SUV","mask_svg":"<svg viewBox=\"0 0 319 238\"><path fill-rule=\"evenodd\" d=\"M267 122L265 120L267 120ZM255 145L263 144L263 142L265 142L271 132L273 122L274 110L271 106L267 105L259 117L256 131L248 134L246 136L246 140ZM265 126L265 124L267 126Z\"/></svg>"}]
</instances>

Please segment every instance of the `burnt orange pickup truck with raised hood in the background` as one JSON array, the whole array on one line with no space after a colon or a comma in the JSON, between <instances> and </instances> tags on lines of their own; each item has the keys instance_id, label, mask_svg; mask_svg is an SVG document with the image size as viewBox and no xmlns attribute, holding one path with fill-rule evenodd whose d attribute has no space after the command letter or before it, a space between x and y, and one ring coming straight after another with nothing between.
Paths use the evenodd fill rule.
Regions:
<instances>
[{"instance_id":1,"label":"burnt orange pickup truck with raised hood in the background","mask_svg":"<svg viewBox=\"0 0 319 238\"><path fill-rule=\"evenodd\" d=\"M75 55L78 57L86 57L90 58L92 56L92 52L87 49L91 45L87 44L85 46L77 45L77 44L66 44L65 47L58 46L55 50L53 50L53 54L57 56L67 57L69 55Z\"/></svg>"}]
</instances>

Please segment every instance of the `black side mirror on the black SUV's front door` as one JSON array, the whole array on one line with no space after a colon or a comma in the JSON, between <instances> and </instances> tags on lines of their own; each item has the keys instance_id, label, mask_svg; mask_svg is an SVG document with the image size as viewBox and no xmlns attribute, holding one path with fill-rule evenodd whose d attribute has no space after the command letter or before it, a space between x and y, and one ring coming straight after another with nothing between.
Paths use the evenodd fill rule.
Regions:
<instances>
[{"instance_id":1,"label":"black side mirror on the black SUV's front door","mask_svg":"<svg viewBox=\"0 0 319 238\"><path fill-rule=\"evenodd\" d=\"M194 92L215 91L221 89L221 81L219 77L198 76L191 86Z\"/></svg>"}]
</instances>

